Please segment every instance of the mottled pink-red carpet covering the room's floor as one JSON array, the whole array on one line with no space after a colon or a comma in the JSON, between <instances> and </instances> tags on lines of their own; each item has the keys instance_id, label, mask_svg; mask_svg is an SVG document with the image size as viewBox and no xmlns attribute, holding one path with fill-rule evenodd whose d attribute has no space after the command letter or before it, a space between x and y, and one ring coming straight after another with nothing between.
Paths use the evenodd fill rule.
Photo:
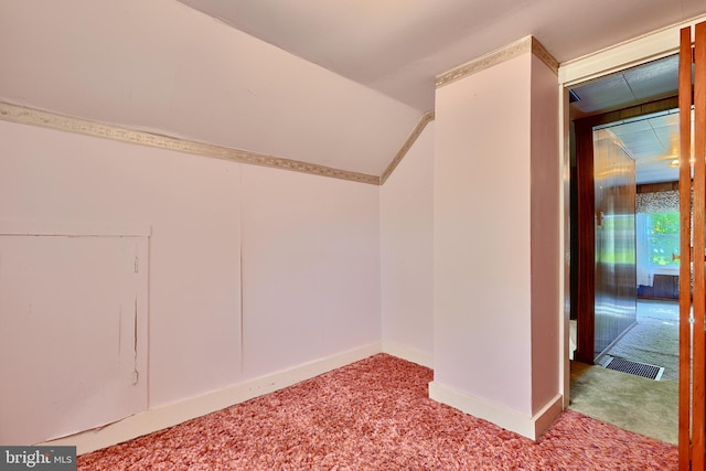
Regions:
<instances>
[{"instance_id":1,"label":"mottled pink-red carpet covering the room's floor","mask_svg":"<svg viewBox=\"0 0 706 471\"><path fill-rule=\"evenodd\" d=\"M674 446L567 410L536 442L428 398L386 354L135 440L79 470L672 470Z\"/></svg>"}]
</instances>

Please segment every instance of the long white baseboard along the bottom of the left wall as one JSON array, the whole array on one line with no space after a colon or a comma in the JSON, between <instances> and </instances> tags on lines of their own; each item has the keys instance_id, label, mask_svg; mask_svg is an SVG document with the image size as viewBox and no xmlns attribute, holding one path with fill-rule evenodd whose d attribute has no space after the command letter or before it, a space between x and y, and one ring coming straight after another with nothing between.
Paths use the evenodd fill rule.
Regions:
<instances>
[{"instance_id":1,"label":"long white baseboard along the bottom of the left wall","mask_svg":"<svg viewBox=\"0 0 706 471\"><path fill-rule=\"evenodd\" d=\"M75 446L77 454L88 453L272 393L382 351L381 343L372 343L39 445Z\"/></svg>"}]
</instances>

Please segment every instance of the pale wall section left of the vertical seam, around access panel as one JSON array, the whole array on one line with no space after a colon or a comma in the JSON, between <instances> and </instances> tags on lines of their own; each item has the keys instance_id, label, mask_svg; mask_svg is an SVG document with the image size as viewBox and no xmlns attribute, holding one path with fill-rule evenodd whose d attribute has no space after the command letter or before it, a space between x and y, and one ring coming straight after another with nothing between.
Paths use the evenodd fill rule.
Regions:
<instances>
[{"instance_id":1,"label":"pale wall section left of the vertical seam, around access panel","mask_svg":"<svg viewBox=\"0 0 706 471\"><path fill-rule=\"evenodd\" d=\"M239 167L10 122L0 132L0 218L152 227L150 406L237 381Z\"/></svg>"}]
</instances>

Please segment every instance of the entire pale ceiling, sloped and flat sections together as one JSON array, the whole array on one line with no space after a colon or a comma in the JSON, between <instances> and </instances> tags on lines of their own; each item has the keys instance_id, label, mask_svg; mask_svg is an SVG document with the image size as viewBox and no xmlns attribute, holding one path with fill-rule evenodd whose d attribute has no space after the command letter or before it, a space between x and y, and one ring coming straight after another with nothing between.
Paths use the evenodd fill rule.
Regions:
<instances>
[{"instance_id":1,"label":"entire pale ceiling, sloped and flat sections together","mask_svg":"<svg viewBox=\"0 0 706 471\"><path fill-rule=\"evenodd\" d=\"M381 175L435 76L534 35L576 58L703 0L0 1L0 100Z\"/></svg>"}]
</instances>

